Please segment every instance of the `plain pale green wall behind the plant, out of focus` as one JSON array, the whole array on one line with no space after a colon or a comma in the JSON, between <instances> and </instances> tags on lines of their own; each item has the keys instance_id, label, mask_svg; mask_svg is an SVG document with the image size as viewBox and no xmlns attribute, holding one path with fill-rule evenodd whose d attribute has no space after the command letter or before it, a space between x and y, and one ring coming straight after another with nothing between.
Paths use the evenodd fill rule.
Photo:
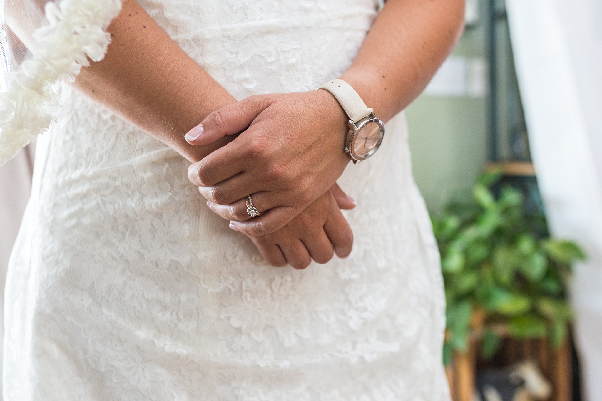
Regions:
<instances>
[{"instance_id":1,"label":"plain pale green wall behind the plant, out of focus","mask_svg":"<svg viewBox=\"0 0 602 401\"><path fill-rule=\"evenodd\" d=\"M483 6L484 2L480 5ZM453 54L486 57L485 9L466 28ZM421 95L406 109L414 177L431 212L468 189L488 155L486 97Z\"/></svg>"}]
</instances>

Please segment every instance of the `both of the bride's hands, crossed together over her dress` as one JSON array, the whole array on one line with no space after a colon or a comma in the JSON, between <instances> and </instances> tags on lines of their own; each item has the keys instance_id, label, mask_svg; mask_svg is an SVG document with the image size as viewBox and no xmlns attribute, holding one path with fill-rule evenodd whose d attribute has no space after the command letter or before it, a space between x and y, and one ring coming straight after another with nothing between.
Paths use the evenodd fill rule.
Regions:
<instances>
[{"instance_id":1,"label":"both of the bride's hands, crossed together over her dress","mask_svg":"<svg viewBox=\"0 0 602 401\"><path fill-rule=\"evenodd\" d=\"M355 204L335 184L349 163L347 117L327 91L247 97L209 114L186 136L193 145L240 133L190 165L188 177L213 212L247 234L274 266L325 263L351 251L339 207ZM249 218L247 195L264 212Z\"/></svg>"}]
</instances>

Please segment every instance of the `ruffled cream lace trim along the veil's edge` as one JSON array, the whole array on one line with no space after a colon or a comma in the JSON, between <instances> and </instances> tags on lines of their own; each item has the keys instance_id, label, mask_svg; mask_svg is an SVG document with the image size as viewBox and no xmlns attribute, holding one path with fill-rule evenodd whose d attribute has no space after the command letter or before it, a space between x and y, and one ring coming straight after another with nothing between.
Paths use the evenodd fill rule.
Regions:
<instances>
[{"instance_id":1,"label":"ruffled cream lace trim along the veil's edge","mask_svg":"<svg viewBox=\"0 0 602 401\"><path fill-rule=\"evenodd\" d=\"M60 81L73 82L89 60L104 58L111 41L106 29L121 6L122 0L46 4L48 25L34 33L39 50L10 72L7 90L0 93L0 166L58 117Z\"/></svg>"}]
</instances>

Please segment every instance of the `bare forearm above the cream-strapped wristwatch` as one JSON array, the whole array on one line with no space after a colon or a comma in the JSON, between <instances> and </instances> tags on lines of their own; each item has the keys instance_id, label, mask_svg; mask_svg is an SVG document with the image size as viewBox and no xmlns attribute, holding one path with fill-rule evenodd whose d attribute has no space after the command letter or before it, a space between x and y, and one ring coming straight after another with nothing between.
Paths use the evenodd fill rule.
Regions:
<instances>
[{"instance_id":1,"label":"bare forearm above the cream-strapped wristwatch","mask_svg":"<svg viewBox=\"0 0 602 401\"><path fill-rule=\"evenodd\" d=\"M341 79L388 121L423 91L463 23L464 0L389 0Z\"/></svg>"}]
</instances>

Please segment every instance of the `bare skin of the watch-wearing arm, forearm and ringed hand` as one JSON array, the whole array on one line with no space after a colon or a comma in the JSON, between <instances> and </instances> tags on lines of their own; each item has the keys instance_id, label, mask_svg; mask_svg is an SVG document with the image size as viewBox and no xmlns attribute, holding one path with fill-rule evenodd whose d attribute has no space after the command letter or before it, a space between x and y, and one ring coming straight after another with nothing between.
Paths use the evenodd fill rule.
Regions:
<instances>
[{"instance_id":1,"label":"bare skin of the watch-wearing arm, forearm and ringed hand","mask_svg":"<svg viewBox=\"0 0 602 401\"><path fill-rule=\"evenodd\" d=\"M389 0L341 79L386 122L426 87L463 22L464 0ZM233 220L232 228L254 236L271 233L341 176L350 161L343 151L347 120L324 90L249 97L201 122L203 133L191 144L244 132L192 164L188 177L209 202L230 206L215 210ZM243 215L247 194L264 215Z\"/></svg>"}]
</instances>

